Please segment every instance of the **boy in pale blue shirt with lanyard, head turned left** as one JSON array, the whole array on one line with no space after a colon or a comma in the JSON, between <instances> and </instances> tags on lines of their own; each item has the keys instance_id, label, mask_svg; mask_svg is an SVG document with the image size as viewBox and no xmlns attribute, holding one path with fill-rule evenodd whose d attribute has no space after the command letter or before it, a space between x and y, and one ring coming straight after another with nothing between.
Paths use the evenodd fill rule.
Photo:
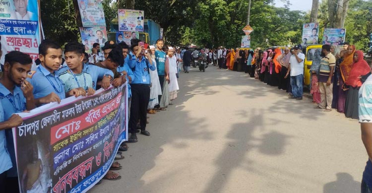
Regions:
<instances>
[{"instance_id":1,"label":"boy in pale blue shirt with lanyard, head turned left","mask_svg":"<svg viewBox=\"0 0 372 193\"><path fill-rule=\"evenodd\" d=\"M60 74L60 79L64 83L66 92L78 89L81 92L85 92L83 96L91 96L96 91L93 89L93 81L90 74L83 72L84 51L84 46L77 42L69 42L65 45L64 57L69 69Z\"/></svg>"}]
</instances>

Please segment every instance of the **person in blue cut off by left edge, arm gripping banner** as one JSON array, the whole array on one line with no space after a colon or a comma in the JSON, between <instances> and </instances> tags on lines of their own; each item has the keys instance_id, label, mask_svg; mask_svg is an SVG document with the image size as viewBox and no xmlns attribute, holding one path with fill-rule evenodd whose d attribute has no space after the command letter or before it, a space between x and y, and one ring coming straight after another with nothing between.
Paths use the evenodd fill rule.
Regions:
<instances>
[{"instance_id":1,"label":"person in blue cut off by left edge, arm gripping banner","mask_svg":"<svg viewBox=\"0 0 372 193\"><path fill-rule=\"evenodd\" d=\"M12 167L11 159L6 148L5 130L21 125L23 120L17 114L12 114L8 120L4 121L4 109L0 102L0 193L5 193L6 171ZM9 187L11 188L11 187Z\"/></svg>"}]
</instances>

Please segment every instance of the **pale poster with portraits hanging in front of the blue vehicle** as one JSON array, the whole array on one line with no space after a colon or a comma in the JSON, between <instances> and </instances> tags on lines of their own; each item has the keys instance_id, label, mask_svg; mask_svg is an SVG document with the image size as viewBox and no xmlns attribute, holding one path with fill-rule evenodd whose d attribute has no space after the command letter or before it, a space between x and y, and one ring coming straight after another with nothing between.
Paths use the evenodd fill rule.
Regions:
<instances>
[{"instance_id":1,"label":"pale poster with portraits hanging in front of the blue vehicle","mask_svg":"<svg viewBox=\"0 0 372 193\"><path fill-rule=\"evenodd\" d=\"M119 31L143 32L144 11L119 9Z\"/></svg>"}]
</instances>

